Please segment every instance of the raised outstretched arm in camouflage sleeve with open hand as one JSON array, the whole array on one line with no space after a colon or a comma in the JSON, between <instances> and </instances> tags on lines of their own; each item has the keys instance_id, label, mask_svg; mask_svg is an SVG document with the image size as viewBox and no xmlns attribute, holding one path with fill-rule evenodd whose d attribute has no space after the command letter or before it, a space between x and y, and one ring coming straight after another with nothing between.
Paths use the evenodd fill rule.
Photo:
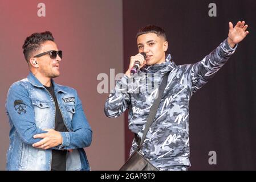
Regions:
<instances>
[{"instance_id":1,"label":"raised outstretched arm in camouflage sleeve with open hand","mask_svg":"<svg viewBox=\"0 0 256 182\"><path fill-rule=\"evenodd\" d=\"M229 22L229 35L214 51L205 56L204 59L196 64L189 65L191 90L196 92L212 78L218 70L226 63L229 57L234 53L237 43L241 42L247 34L247 24L237 22L235 27Z\"/></svg>"}]
</instances>

